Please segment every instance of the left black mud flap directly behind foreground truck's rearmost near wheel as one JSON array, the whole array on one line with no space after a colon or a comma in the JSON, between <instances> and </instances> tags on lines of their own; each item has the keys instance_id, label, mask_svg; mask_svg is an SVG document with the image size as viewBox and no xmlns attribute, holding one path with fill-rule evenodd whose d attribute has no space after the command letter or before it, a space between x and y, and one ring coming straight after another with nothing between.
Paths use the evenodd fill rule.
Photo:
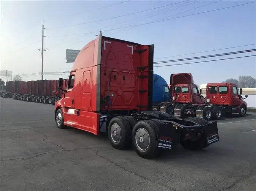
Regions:
<instances>
[{"instance_id":1,"label":"left black mud flap directly behind foreground truck's rearmost near wheel","mask_svg":"<svg viewBox=\"0 0 256 191\"><path fill-rule=\"evenodd\" d=\"M157 134L157 149L172 149L174 145L179 143L179 133L175 131L176 125L159 124Z\"/></svg>"}]
</instances>

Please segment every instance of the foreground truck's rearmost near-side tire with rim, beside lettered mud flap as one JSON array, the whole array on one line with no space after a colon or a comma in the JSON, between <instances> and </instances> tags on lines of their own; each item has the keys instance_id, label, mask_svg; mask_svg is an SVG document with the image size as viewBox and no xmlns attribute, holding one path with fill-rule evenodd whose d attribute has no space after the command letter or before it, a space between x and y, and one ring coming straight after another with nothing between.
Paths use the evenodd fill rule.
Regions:
<instances>
[{"instance_id":1,"label":"foreground truck's rearmost near-side tire with rim, beside lettered mud flap","mask_svg":"<svg viewBox=\"0 0 256 191\"><path fill-rule=\"evenodd\" d=\"M157 120L141 120L132 129L132 145L138 156L144 159L154 158L159 154L156 148Z\"/></svg>"}]
</instances>

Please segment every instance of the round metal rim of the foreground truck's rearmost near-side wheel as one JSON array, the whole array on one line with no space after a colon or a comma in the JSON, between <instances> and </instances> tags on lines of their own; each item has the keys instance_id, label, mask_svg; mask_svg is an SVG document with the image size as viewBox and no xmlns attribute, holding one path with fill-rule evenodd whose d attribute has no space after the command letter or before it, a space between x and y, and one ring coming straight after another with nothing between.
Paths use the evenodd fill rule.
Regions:
<instances>
[{"instance_id":1,"label":"round metal rim of the foreground truck's rearmost near-side wheel","mask_svg":"<svg viewBox=\"0 0 256 191\"><path fill-rule=\"evenodd\" d=\"M150 137L149 137L148 131L144 128L138 129L135 134L135 142L136 142L137 147L141 151L146 151L146 149L148 149L149 143L150 143Z\"/></svg>"}]
</instances>

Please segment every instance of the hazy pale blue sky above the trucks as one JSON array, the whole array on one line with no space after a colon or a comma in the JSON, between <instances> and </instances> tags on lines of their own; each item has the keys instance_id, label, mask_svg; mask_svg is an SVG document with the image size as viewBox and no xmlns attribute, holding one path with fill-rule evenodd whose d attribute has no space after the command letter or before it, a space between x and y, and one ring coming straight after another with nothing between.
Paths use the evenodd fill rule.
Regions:
<instances>
[{"instance_id":1,"label":"hazy pale blue sky above the trucks","mask_svg":"<svg viewBox=\"0 0 256 191\"><path fill-rule=\"evenodd\" d=\"M65 50L82 49L86 43L96 37L96 34L99 34L100 29L104 36L145 45L154 44L155 61L256 48L255 45L251 45L174 57L175 55L256 43L256 3L181 17L198 12L255 2L255 0L189 0L186 2L130 0L118 5L108 6L119 2L122 1L1 0L0 69L13 71L13 74L20 74L24 81L41 79L41 74L39 74L41 72L41 53L38 49L42 46L42 20L45 20L44 27L48 29L45 30L45 36L48 38L44 40L44 48L47 49L44 53L44 72L69 71L72 63L66 63ZM132 14L173 3L177 4ZM105 6L108 7L102 8ZM93 22L125 14L131 15ZM116 29L166 18L175 19L137 27ZM76 25L80 23L87 24ZM253 54L256 54L256 52L202 60ZM197 61L201 60L187 62ZM195 83L199 85L201 83L221 82L228 78L238 78L239 75L251 75L255 78L256 59L255 57L248 57L190 65L155 67L154 72L162 75L167 82L170 81L170 74L172 73L191 72ZM68 74L45 74L44 79L53 80L59 77L66 78L67 76ZM5 77L1 78L6 81Z\"/></svg>"}]
</instances>

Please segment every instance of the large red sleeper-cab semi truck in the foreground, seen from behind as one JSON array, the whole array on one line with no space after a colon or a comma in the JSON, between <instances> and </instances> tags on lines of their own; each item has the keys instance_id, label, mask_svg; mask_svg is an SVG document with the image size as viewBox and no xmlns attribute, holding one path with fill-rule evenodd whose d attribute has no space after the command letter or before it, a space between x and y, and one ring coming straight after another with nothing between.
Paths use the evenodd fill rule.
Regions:
<instances>
[{"instance_id":1,"label":"large red sleeper-cab semi truck in the foreground, seen from behind","mask_svg":"<svg viewBox=\"0 0 256 191\"><path fill-rule=\"evenodd\" d=\"M89 42L77 55L66 87L59 79L57 127L105 132L114 148L133 146L143 158L178 143L194 150L217 142L217 122L152 111L153 51L154 45L102 34Z\"/></svg>"}]
</instances>

